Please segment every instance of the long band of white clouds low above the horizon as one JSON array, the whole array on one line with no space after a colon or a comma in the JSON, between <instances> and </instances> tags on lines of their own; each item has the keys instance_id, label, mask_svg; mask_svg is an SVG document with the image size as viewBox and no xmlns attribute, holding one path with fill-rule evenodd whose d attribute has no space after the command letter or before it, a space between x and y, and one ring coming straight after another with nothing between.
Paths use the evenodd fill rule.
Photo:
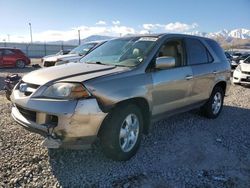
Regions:
<instances>
[{"instance_id":1,"label":"long band of white clouds low above the horizon","mask_svg":"<svg viewBox=\"0 0 250 188\"><path fill-rule=\"evenodd\" d=\"M106 25L105 25L105 24ZM141 28L140 28L141 27ZM181 22L171 22L167 24L145 23L138 28L121 25L120 21L112 21L107 24L99 20L93 26L82 25L68 30L46 30L42 32L33 32L33 41L50 42L50 41L68 41L78 38L78 30L81 32L81 38L84 39L91 35L107 35L113 37L124 36L126 34L148 34L160 32L189 32L198 27L197 23L187 24ZM8 41L7 34L0 33L0 42ZM10 42L30 42L30 35L10 35Z\"/></svg>"}]
</instances>

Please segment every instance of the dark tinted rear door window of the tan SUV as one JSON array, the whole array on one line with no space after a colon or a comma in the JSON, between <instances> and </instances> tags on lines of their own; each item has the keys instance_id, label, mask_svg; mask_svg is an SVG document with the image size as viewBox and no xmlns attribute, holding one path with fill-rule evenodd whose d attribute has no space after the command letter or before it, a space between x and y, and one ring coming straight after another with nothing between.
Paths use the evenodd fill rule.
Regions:
<instances>
[{"instance_id":1,"label":"dark tinted rear door window of the tan SUV","mask_svg":"<svg viewBox=\"0 0 250 188\"><path fill-rule=\"evenodd\" d=\"M209 63L213 61L212 56L205 46L197 39L186 39L186 48L189 65Z\"/></svg>"}]
</instances>

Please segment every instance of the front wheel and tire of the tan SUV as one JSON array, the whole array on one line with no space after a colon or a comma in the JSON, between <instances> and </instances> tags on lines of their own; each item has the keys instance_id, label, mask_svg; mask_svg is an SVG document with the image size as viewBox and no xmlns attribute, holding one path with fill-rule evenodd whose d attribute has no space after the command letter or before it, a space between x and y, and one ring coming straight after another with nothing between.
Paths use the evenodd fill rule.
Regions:
<instances>
[{"instance_id":1,"label":"front wheel and tire of the tan SUV","mask_svg":"<svg viewBox=\"0 0 250 188\"><path fill-rule=\"evenodd\" d=\"M122 105L114 109L103 126L100 141L108 158L126 161L135 155L143 131L142 114L136 105Z\"/></svg>"}]
</instances>

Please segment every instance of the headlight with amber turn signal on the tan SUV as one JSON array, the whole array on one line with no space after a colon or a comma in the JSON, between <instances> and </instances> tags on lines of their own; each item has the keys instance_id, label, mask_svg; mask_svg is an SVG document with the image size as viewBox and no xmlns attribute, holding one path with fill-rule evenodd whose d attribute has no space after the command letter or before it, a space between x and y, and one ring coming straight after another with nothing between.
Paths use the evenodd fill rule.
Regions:
<instances>
[{"instance_id":1,"label":"headlight with amber turn signal on the tan SUV","mask_svg":"<svg viewBox=\"0 0 250 188\"><path fill-rule=\"evenodd\" d=\"M80 99L90 97L90 93L80 83L55 83L42 94L56 99Z\"/></svg>"}]
</instances>

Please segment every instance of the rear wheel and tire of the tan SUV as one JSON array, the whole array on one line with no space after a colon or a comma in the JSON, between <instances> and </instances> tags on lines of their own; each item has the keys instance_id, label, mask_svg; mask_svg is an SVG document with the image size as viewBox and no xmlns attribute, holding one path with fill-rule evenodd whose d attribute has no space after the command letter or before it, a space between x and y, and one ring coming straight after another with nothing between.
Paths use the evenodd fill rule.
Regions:
<instances>
[{"instance_id":1,"label":"rear wheel and tire of the tan SUV","mask_svg":"<svg viewBox=\"0 0 250 188\"><path fill-rule=\"evenodd\" d=\"M210 119L217 118L223 107L224 95L224 90L219 86L215 86L210 98L206 104L201 107L202 115Z\"/></svg>"}]
</instances>

